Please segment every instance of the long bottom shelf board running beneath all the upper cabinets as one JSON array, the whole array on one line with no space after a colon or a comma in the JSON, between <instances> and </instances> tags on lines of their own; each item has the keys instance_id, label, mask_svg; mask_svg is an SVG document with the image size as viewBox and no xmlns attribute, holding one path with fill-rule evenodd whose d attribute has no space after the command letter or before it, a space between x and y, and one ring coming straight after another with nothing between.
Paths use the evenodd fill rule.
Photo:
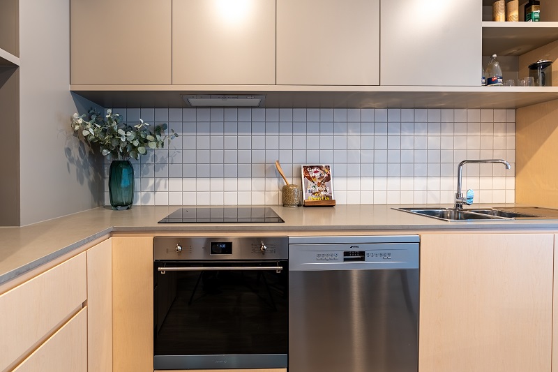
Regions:
<instances>
[{"instance_id":1,"label":"long bottom shelf board running beneath all the upper cabinets","mask_svg":"<svg viewBox=\"0 0 558 372\"><path fill-rule=\"evenodd\" d=\"M558 99L558 87L72 85L103 107L186 107L182 94L264 94L264 107L515 109ZM217 93L216 93L217 92Z\"/></svg>"}]
</instances>

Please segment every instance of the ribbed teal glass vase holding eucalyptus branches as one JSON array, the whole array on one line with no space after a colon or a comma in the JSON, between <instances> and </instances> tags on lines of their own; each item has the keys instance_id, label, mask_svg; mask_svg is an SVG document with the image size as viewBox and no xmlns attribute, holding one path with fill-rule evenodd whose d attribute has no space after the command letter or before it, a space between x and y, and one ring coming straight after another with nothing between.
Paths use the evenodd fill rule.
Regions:
<instances>
[{"instance_id":1,"label":"ribbed teal glass vase holding eucalyptus branches","mask_svg":"<svg viewBox=\"0 0 558 372\"><path fill-rule=\"evenodd\" d=\"M109 169L109 197L112 209L130 209L134 202L134 168L130 161L115 160Z\"/></svg>"}]
</instances>

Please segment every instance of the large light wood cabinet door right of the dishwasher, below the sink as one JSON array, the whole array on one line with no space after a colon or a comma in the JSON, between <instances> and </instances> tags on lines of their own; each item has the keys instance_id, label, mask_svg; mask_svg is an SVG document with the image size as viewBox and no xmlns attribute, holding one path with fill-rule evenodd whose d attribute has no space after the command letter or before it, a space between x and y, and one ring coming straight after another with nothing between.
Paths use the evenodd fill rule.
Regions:
<instances>
[{"instance_id":1,"label":"large light wood cabinet door right of the dishwasher, below the sink","mask_svg":"<svg viewBox=\"0 0 558 372\"><path fill-rule=\"evenodd\" d=\"M419 371L550 371L553 235L421 235Z\"/></svg>"}]
</instances>

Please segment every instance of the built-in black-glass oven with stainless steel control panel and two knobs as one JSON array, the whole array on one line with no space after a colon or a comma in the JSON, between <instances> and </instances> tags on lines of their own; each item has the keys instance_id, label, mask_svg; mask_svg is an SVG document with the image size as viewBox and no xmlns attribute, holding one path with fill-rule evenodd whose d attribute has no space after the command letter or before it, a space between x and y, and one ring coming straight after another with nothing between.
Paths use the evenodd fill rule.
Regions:
<instances>
[{"instance_id":1,"label":"built-in black-glass oven with stainless steel control panel and two knobs","mask_svg":"<svg viewBox=\"0 0 558 372\"><path fill-rule=\"evenodd\" d=\"M286 368L287 237L156 237L156 370Z\"/></svg>"}]
</instances>

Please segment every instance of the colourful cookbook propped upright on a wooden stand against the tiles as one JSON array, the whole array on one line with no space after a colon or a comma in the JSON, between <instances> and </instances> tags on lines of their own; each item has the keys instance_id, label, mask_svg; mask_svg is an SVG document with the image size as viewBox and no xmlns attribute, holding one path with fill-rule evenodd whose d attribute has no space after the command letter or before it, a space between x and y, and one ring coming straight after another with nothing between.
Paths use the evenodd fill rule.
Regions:
<instances>
[{"instance_id":1,"label":"colourful cookbook propped upright on a wooden stand against the tiles","mask_svg":"<svg viewBox=\"0 0 558 372\"><path fill-rule=\"evenodd\" d=\"M335 205L331 180L331 165L302 165L303 205Z\"/></svg>"}]
</instances>

